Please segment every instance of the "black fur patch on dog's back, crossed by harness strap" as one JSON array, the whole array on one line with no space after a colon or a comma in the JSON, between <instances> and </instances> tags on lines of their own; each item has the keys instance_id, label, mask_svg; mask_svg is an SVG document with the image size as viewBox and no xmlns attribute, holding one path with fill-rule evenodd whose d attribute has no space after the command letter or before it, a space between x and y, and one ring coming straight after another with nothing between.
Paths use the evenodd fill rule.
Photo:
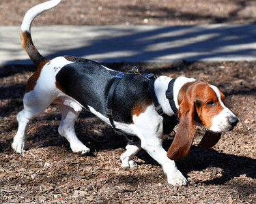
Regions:
<instances>
[{"instance_id":1,"label":"black fur patch on dog's back, crossed by harness strap","mask_svg":"<svg viewBox=\"0 0 256 204\"><path fill-rule=\"evenodd\" d=\"M73 61L73 60L72 60ZM94 107L106 116L106 99L116 71L83 58L64 66L56 75L59 88L84 107ZM132 123L132 109L139 101L150 97L149 80L135 73L126 73L113 95L113 120Z\"/></svg>"}]
</instances>

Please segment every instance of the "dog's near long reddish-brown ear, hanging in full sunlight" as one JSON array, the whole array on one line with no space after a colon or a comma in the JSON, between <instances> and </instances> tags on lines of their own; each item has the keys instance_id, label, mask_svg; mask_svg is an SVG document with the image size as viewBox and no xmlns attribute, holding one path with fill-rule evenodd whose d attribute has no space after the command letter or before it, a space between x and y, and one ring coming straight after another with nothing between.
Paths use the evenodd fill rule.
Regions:
<instances>
[{"instance_id":1,"label":"dog's near long reddish-brown ear, hanging in full sunlight","mask_svg":"<svg viewBox=\"0 0 256 204\"><path fill-rule=\"evenodd\" d=\"M177 133L171 143L171 147L167 152L168 158L171 160L180 160L184 158L192 144L195 137L195 129L193 126L194 118L194 101L185 96L179 107L180 124Z\"/></svg>"}]
</instances>

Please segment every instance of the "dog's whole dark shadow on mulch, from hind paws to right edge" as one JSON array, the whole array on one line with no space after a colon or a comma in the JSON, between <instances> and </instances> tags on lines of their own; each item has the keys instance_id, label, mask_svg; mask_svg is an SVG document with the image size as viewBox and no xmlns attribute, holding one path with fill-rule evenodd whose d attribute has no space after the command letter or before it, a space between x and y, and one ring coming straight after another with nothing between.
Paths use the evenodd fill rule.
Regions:
<instances>
[{"instance_id":1,"label":"dog's whole dark shadow on mulch, from hind paws to right edge","mask_svg":"<svg viewBox=\"0 0 256 204\"><path fill-rule=\"evenodd\" d=\"M51 116L53 117L53 116ZM55 116L56 117L56 116ZM91 118L91 114L85 112L82 114L82 118L88 118L88 121L94 121L94 118ZM54 120L54 118L43 118L48 120ZM56 119L56 118L55 118ZM60 118L57 118L59 121ZM84 122L78 122L75 125L77 130L77 135L79 139L85 145L91 149L91 152L99 152L102 150L115 150L118 148L125 148L127 144L127 139L124 135L115 133L109 126L106 126L102 122L102 126L97 129L96 126L90 127L90 133L87 130L83 130L84 127L89 126L90 124L84 124ZM95 119L95 125L99 122L99 119ZM58 122L57 122L58 123ZM46 123L44 123L46 124ZM10 129L16 129L17 123L13 122L10 125ZM59 136L58 134L58 125L57 124L47 124L44 126L38 126L37 130L33 135L28 137L28 148L42 148L48 146L61 146L66 148L67 151L70 150L70 144L64 137ZM165 150L171 146L171 139L165 139L163 141L163 147ZM0 152L12 151L10 146L12 139L5 140L4 143L1 143ZM94 156L94 154L89 154L89 156ZM141 150L137 155L139 159L143 160L143 163L148 163L152 165L158 165L156 161L150 157L147 152ZM188 177L188 173L191 171L203 171L205 169L221 169L221 177L212 176L212 180L207 180L204 183L206 185L210 184L225 184L232 180L234 177L240 177L240 175L246 175L246 177L251 177L252 179L256 178L256 160L253 158L248 158L246 156L236 156L234 154L225 154L223 152L218 152L214 149L203 150L198 146L193 146L188 154L188 156L178 162L176 162L178 169ZM141 163L139 163L141 165ZM216 171L216 170L215 170ZM218 170L217 170L218 171Z\"/></svg>"}]
</instances>

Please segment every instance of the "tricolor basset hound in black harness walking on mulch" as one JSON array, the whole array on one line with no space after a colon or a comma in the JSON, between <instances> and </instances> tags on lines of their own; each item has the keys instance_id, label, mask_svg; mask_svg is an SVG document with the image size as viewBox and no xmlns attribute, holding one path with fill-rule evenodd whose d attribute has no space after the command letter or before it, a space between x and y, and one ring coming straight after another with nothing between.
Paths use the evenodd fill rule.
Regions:
<instances>
[{"instance_id":1,"label":"tricolor basset hound in black harness walking on mulch","mask_svg":"<svg viewBox=\"0 0 256 204\"><path fill-rule=\"evenodd\" d=\"M85 108L114 129L131 135L120 158L122 167L136 167L133 157L143 148L162 166L169 184L186 185L188 181L175 166L175 160L184 158L190 151L195 137L193 124L205 126L199 146L211 148L221 133L231 131L238 123L238 118L223 103L223 92L193 78L156 78L136 70L122 73L74 56L44 58L33 45L31 23L60 1L35 5L25 14L21 25L21 43L38 68L27 81L24 109L16 117L18 131L13 150L23 152L29 122L51 103L58 103L59 134L66 137L73 152L87 154L89 148L74 131L74 122ZM177 133L166 152L162 148L162 136L177 122L180 123Z\"/></svg>"}]
</instances>

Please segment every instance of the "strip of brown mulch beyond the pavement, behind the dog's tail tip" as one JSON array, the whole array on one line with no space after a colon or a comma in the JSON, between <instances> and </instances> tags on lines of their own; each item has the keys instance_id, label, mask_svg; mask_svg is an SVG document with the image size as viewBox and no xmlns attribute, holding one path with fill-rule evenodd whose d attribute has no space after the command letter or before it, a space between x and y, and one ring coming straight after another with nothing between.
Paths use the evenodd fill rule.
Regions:
<instances>
[{"instance_id":1,"label":"strip of brown mulch beyond the pavement, behind the dog's tail tip","mask_svg":"<svg viewBox=\"0 0 256 204\"><path fill-rule=\"evenodd\" d=\"M25 12L43 1L1 0L0 24L20 25ZM255 23L255 14L255 0L63 0L35 25Z\"/></svg>"}]
</instances>

